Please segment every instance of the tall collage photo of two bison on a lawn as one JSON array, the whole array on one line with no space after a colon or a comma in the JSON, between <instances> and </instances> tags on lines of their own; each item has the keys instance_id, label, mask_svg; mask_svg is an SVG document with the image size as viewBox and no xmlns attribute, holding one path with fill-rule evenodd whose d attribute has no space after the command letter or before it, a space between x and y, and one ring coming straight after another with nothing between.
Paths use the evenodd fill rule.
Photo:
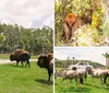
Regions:
<instances>
[{"instance_id":1,"label":"tall collage photo of two bison on a lawn","mask_svg":"<svg viewBox=\"0 0 109 93\"><path fill-rule=\"evenodd\" d=\"M0 93L53 93L53 0L0 0Z\"/></svg>"}]
</instances>

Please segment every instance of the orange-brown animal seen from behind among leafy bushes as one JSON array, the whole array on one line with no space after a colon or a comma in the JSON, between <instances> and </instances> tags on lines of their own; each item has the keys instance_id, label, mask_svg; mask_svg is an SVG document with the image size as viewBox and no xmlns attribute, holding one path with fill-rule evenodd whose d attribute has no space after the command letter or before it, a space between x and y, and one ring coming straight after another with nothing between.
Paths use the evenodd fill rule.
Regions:
<instances>
[{"instance_id":1,"label":"orange-brown animal seen from behind among leafy bushes","mask_svg":"<svg viewBox=\"0 0 109 93\"><path fill-rule=\"evenodd\" d=\"M84 21L80 16L73 13L69 13L64 20L63 33L61 38L64 37L65 43L69 44L71 37L73 36L73 33L82 25L84 25Z\"/></svg>"}]
</instances>

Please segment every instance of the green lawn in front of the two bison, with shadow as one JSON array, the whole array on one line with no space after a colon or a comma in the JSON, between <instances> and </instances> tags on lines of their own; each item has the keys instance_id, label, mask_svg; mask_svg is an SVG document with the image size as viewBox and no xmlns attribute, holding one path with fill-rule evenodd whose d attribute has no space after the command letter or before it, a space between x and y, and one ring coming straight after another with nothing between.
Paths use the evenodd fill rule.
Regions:
<instances>
[{"instance_id":1,"label":"green lawn in front of the two bison, with shadow","mask_svg":"<svg viewBox=\"0 0 109 93\"><path fill-rule=\"evenodd\" d=\"M0 93L52 93L52 80L46 69L31 62L31 68L15 63L0 65Z\"/></svg>"}]
</instances>

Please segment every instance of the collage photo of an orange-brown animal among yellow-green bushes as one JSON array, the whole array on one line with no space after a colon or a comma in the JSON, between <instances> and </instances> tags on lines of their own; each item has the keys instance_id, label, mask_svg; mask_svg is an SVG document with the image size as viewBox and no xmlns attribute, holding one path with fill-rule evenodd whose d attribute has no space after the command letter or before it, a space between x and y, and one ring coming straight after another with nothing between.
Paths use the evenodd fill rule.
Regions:
<instances>
[{"instance_id":1,"label":"collage photo of an orange-brown animal among yellow-green bushes","mask_svg":"<svg viewBox=\"0 0 109 93\"><path fill-rule=\"evenodd\" d=\"M108 0L55 0L56 46L109 46Z\"/></svg>"}]
</instances>

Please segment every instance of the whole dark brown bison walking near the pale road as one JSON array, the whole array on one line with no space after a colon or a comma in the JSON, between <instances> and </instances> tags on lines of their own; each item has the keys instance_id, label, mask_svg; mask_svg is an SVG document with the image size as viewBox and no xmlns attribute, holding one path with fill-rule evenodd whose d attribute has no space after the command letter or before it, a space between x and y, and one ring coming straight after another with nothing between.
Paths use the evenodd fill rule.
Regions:
<instances>
[{"instance_id":1,"label":"whole dark brown bison walking near the pale road","mask_svg":"<svg viewBox=\"0 0 109 93\"><path fill-rule=\"evenodd\" d=\"M10 55L10 60L11 61L16 60L16 66L21 61L22 67L24 67L23 62L26 61L25 67L28 65L28 68L29 68L29 58L31 58L29 53L24 49L16 49L14 53L11 53L11 55Z\"/></svg>"}]
</instances>

